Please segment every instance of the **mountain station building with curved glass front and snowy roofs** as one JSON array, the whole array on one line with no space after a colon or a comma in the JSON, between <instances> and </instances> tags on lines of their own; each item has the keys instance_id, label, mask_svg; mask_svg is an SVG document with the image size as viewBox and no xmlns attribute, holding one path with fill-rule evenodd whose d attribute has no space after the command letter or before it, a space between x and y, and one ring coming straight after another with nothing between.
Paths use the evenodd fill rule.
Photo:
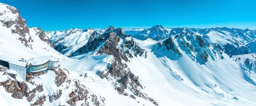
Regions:
<instances>
[{"instance_id":1,"label":"mountain station building with curved glass front and snowy roofs","mask_svg":"<svg viewBox=\"0 0 256 106\"><path fill-rule=\"evenodd\" d=\"M0 65L7 67L9 70L16 71L18 77L23 80L26 80L26 73L38 76L46 73L49 69L56 70L60 67L58 60L51 56L40 56L28 60L17 60L8 56L0 56ZM16 76L13 73L9 73L9 75L12 77Z\"/></svg>"}]
</instances>

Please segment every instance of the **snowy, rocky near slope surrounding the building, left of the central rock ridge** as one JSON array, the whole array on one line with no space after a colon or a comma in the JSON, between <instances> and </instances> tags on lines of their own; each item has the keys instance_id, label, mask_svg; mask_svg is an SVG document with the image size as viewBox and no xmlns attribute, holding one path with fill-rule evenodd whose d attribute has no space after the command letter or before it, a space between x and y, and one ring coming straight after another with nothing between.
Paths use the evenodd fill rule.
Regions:
<instances>
[{"instance_id":1,"label":"snowy, rocky near slope surrounding the building, left of the central rock ridge","mask_svg":"<svg viewBox=\"0 0 256 106\"><path fill-rule=\"evenodd\" d=\"M140 97L134 100L134 95L118 94L113 85L120 85L119 79L103 80L95 74L107 69L113 56L91 55L81 60L68 58L51 47L42 30L28 28L25 23L22 26L17 20L25 20L15 7L0 3L0 8L0 55L17 60L49 55L60 60L61 65L56 71L49 70L32 78L34 84L19 77L14 80L6 74L9 70L1 66L1 105L138 105L138 102L152 105ZM22 32L23 28L28 31Z\"/></svg>"}]
</instances>

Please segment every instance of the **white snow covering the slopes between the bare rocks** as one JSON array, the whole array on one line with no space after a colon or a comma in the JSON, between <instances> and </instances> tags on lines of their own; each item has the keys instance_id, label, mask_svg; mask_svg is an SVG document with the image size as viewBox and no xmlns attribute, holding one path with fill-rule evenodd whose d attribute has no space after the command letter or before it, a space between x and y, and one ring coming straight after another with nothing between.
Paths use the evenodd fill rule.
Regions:
<instances>
[{"instance_id":1,"label":"white snow covering the slopes between the bare rocks","mask_svg":"<svg viewBox=\"0 0 256 106\"><path fill-rule=\"evenodd\" d=\"M2 3L0 3L0 10L1 12L6 10ZM0 20L9 20L9 18L12 20L16 17L16 14L9 13L7 12L5 16L1 16ZM14 59L31 59L48 55L60 60L61 69L68 70L64 71L71 83L64 82L60 87L57 87L54 82L56 75L53 71L35 77L33 80L35 84L42 84L44 90L40 93L36 92L33 102L43 94L47 96L61 89L62 96L60 99L50 103L49 96L47 96L44 105L69 105L66 103L69 99L68 95L74 90L75 81L78 81L98 97L105 97L105 105L153 105L150 101L141 97L136 97L136 100L134 100L131 97L118 94L113 89L112 81L99 78L97 71L105 70L107 63L112 62L113 56L95 55L94 53L76 56L73 59L65 56L87 43L90 38L89 35L92 33L91 29L85 32L80 31L80 29L72 29L73 33L69 36L65 36L63 32L58 31L54 32L55 35L53 36L49 35L55 40L64 37L58 43L64 43L65 46L70 47L65 55L60 54L60 52L55 51L54 48L40 40L36 35L35 28L29 28L29 35L34 40L34 42L31 42L33 49L25 47L18 40L19 35L13 34L11 29L6 28L0 22L0 55ZM168 29L168 33L170 31ZM229 35L230 33L226 34ZM221 41L221 43L232 43L233 37L226 36L226 34L210 32L207 36L214 43L220 43ZM131 40L131 38L127 37L127 40ZM151 39L134 40L147 51L147 58L140 56L131 58L129 59L131 62L127 62L127 65L132 73L139 76L139 81L144 88L142 92L152 97L159 105L256 105L256 85L247 79L250 78L251 81L255 82L256 74L255 71L244 65L244 60L247 58L254 60L255 65L255 54L229 58L227 54L223 53L224 59L209 59L206 65L201 65L192 60L180 47L178 49L183 56L179 59L170 59L173 56L170 52L156 51L152 48L158 41ZM243 43L240 42L240 44ZM43 59L39 60L43 62ZM0 72L0 82L8 80L8 75L2 74ZM80 77L81 74L82 77ZM86 78L84 78L84 74L87 74ZM22 80L18 79L18 81ZM27 84L30 90L35 88L34 85ZM69 86L69 88L66 88L66 86ZM131 91L126 90L126 92ZM3 86L0 86L0 101L1 105L31 104L28 103L25 97L21 100L14 99L11 97L11 93L5 91ZM81 105L81 103L83 101L79 101L76 105ZM91 101L90 105L93 105Z\"/></svg>"}]
</instances>

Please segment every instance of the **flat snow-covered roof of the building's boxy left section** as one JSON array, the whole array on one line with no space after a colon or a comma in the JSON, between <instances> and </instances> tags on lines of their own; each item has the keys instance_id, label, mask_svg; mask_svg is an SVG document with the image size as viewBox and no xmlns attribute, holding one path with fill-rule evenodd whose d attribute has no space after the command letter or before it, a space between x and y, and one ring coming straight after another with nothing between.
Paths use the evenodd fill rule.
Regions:
<instances>
[{"instance_id":1,"label":"flat snow-covered roof of the building's boxy left section","mask_svg":"<svg viewBox=\"0 0 256 106\"><path fill-rule=\"evenodd\" d=\"M9 62L9 64L18 65L21 67L26 67L28 65L28 62L23 62L18 59L13 59L13 58L10 58L9 56L5 56L5 55L0 55L0 60Z\"/></svg>"}]
</instances>

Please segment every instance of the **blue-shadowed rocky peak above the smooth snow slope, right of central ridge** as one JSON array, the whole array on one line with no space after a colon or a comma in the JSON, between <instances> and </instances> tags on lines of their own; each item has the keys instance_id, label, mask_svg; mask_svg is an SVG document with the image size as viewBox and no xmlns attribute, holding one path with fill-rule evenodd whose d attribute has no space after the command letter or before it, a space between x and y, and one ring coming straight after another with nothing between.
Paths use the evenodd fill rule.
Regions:
<instances>
[{"instance_id":1,"label":"blue-shadowed rocky peak above the smooth snow slope, right of central ridge","mask_svg":"<svg viewBox=\"0 0 256 106\"><path fill-rule=\"evenodd\" d=\"M153 47L153 52L156 55L159 54L159 56L166 55L161 54L162 51L159 51L160 48L163 51L165 49L172 51L174 53L173 55L169 56L167 54L166 56L174 60L179 59L183 55L188 55L192 60L196 60L200 64L205 64L209 59L223 59L223 48L220 45L210 44L202 36L193 32L183 32L175 36L170 36ZM181 54L180 50L184 51L185 54Z\"/></svg>"}]
</instances>

